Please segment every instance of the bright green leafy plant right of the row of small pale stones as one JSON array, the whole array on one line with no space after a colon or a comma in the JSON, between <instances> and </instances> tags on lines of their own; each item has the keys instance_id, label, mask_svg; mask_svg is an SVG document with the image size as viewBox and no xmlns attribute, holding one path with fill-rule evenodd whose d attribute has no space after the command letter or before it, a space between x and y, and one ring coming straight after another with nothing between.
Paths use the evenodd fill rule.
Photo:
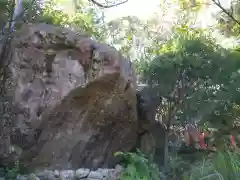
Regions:
<instances>
[{"instance_id":1,"label":"bright green leafy plant right of the row of small pale stones","mask_svg":"<svg viewBox=\"0 0 240 180\"><path fill-rule=\"evenodd\" d=\"M125 167L121 174L120 180L160 180L160 172L157 165L152 163L139 151L137 153L122 153L117 152L115 156L123 159Z\"/></svg>"}]
</instances>

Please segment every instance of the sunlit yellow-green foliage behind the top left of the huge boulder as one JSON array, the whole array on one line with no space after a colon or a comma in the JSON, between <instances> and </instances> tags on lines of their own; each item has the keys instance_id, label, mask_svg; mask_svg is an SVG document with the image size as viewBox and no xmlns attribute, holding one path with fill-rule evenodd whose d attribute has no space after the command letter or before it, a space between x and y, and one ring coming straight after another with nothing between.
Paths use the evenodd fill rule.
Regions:
<instances>
[{"instance_id":1,"label":"sunlit yellow-green foliage behind the top left of the huge boulder","mask_svg":"<svg viewBox=\"0 0 240 180\"><path fill-rule=\"evenodd\" d=\"M105 39L103 30L100 28L98 22L101 19L99 12L87 6L82 1L78 1L76 4L76 11L74 13L67 13L59 6L59 0L45 1L44 7L40 8L37 1L32 3L31 0L23 1L24 13L22 18L18 19L15 25L15 29L21 27L25 22L44 22L47 24L53 24L62 27L68 27L74 29L80 33L87 34L100 41ZM0 2L1 18L0 25L3 27L9 20L9 13L12 9L9 0Z\"/></svg>"}]
</instances>

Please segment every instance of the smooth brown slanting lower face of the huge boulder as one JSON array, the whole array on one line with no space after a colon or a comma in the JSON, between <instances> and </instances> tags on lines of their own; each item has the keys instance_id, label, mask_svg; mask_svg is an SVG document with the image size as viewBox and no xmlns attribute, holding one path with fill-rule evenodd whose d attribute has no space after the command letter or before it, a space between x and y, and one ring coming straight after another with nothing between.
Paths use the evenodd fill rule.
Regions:
<instances>
[{"instance_id":1,"label":"smooth brown slanting lower face of the huge boulder","mask_svg":"<svg viewBox=\"0 0 240 180\"><path fill-rule=\"evenodd\" d=\"M114 153L131 151L138 137L136 92L119 73L77 87L43 115L29 168L112 168Z\"/></svg>"}]
</instances>

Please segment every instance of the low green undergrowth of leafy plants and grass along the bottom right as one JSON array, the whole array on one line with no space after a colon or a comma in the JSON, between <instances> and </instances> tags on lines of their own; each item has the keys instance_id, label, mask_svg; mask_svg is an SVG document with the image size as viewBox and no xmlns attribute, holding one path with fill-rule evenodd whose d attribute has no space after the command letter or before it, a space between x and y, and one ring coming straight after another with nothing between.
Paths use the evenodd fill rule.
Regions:
<instances>
[{"instance_id":1,"label":"low green undergrowth of leafy plants and grass along the bottom right","mask_svg":"<svg viewBox=\"0 0 240 180\"><path fill-rule=\"evenodd\" d=\"M124 160L121 180L159 180L163 173L141 153L115 154ZM206 157L206 156L205 156ZM179 156L170 156L167 176L172 180L237 180L240 176L240 155L234 152L217 152L200 161L190 163ZM164 179L165 179L164 178Z\"/></svg>"}]
</instances>

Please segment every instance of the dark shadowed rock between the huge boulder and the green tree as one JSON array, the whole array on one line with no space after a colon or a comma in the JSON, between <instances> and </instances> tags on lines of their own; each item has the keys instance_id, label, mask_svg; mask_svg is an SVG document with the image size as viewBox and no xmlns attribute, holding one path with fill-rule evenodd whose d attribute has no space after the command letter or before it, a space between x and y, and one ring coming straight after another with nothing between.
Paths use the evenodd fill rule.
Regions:
<instances>
[{"instance_id":1,"label":"dark shadowed rock between the huge boulder and the green tree","mask_svg":"<svg viewBox=\"0 0 240 180\"><path fill-rule=\"evenodd\" d=\"M152 92L152 89L148 86L142 88L138 93L138 99L140 98L140 100L138 100L140 103L138 104L141 105L138 107L138 110L140 110L140 112L138 112L138 114L140 114L139 121L141 121L140 124L146 123L145 129L147 129L147 133L141 137L141 145L144 146L143 150L152 148L151 155L153 154L155 163L162 166L164 163L165 140L167 134L166 128L161 122L154 121L149 123L149 121L146 121L155 120L157 107L161 103L161 98L154 96L155 94L156 93ZM145 151L145 153L149 154L149 151Z\"/></svg>"}]
</instances>

